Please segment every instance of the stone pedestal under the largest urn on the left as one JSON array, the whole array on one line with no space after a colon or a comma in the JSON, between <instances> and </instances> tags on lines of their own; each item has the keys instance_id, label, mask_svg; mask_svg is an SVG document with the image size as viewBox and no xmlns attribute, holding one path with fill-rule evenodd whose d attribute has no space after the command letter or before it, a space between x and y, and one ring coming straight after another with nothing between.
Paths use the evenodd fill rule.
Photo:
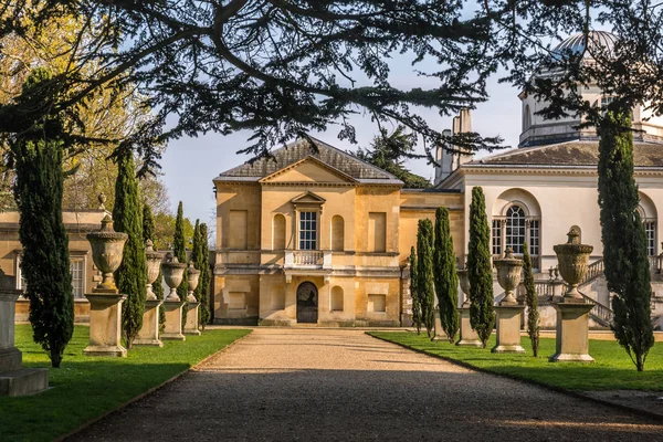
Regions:
<instances>
[{"instance_id":1,"label":"stone pedestal under the largest urn on the left","mask_svg":"<svg viewBox=\"0 0 663 442\"><path fill-rule=\"evenodd\" d=\"M127 295L98 292L85 294L90 301L90 345L83 355L126 357L127 349L122 346L122 303Z\"/></svg>"}]
</instances>

